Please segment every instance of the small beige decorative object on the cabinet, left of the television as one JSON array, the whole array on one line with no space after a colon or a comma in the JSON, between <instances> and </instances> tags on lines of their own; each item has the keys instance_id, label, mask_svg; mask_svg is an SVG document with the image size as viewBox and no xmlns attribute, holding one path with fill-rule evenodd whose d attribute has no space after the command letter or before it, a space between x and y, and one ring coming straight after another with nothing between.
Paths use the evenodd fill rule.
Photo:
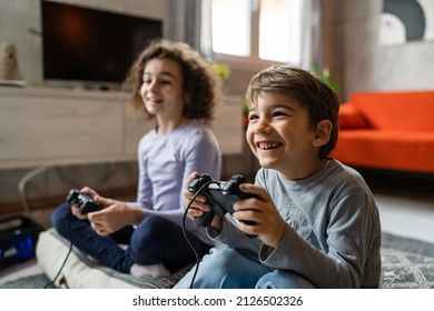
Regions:
<instances>
[{"instance_id":1,"label":"small beige decorative object on the cabinet, left of the television","mask_svg":"<svg viewBox=\"0 0 434 311\"><path fill-rule=\"evenodd\" d=\"M10 84L10 81L21 82L21 73L18 67L17 49L12 43L0 43L0 82Z\"/></svg>"}]
</instances>

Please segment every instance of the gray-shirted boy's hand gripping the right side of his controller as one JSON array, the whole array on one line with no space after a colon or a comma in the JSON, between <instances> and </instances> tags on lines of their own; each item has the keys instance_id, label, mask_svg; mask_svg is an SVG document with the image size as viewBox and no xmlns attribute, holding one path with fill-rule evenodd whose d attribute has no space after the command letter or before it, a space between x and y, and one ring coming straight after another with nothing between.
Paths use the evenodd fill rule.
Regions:
<instances>
[{"instance_id":1,"label":"gray-shirted boy's hand gripping the right side of his controller","mask_svg":"<svg viewBox=\"0 0 434 311\"><path fill-rule=\"evenodd\" d=\"M234 219L238 220L239 230L258 235L264 244L277 248L284 235L286 222L277 211L273 200L264 188L243 183L239 189L257 198L240 200L234 204ZM247 224L254 222L254 224Z\"/></svg>"}]
</instances>

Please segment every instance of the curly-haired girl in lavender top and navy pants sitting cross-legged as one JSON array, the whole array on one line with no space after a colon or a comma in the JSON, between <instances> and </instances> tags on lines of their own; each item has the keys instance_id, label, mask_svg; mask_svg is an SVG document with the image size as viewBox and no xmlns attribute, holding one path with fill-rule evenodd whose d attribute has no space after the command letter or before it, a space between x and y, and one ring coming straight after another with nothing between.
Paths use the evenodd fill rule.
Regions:
<instances>
[{"instance_id":1,"label":"curly-haired girl in lavender top and navy pants sitting cross-legged","mask_svg":"<svg viewBox=\"0 0 434 311\"><path fill-rule=\"evenodd\" d=\"M156 120L138 146L137 201L102 198L85 187L81 192L105 209L82 214L77 204L63 203L52 224L105 265L136 277L169 275L195 260L183 234L184 181L194 171L220 177L219 146L206 127L219 101L219 80L186 43L157 40L126 81L132 86L131 108ZM186 230L198 255L208 252L211 241L204 230L190 221Z\"/></svg>"}]
</instances>

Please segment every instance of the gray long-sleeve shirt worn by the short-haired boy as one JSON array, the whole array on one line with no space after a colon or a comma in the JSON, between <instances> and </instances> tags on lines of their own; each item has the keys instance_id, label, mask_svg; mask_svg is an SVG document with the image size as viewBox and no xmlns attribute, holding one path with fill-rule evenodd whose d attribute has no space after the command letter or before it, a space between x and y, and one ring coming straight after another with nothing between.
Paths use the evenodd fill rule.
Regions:
<instances>
[{"instance_id":1,"label":"gray long-sleeve shirt worn by the short-haired boy","mask_svg":"<svg viewBox=\"0 0 434 311\"><path fill-rule=\"evenodd\" d=\"M377 288L381 223L363 178L337 160L316 174L292 181L260 169L256 184L272 197L286 230L270 248L250 239L226 215L221 232L209 235L274 269L292 270L318 288Z\"/></svg>"}]
</instances>

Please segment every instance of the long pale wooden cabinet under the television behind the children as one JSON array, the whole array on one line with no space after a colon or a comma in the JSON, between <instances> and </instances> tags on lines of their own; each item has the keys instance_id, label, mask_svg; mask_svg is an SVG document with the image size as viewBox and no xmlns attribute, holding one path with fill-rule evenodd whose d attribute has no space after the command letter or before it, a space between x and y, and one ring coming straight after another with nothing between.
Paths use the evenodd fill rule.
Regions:
<instances>
[{"instance_id":1,"label":"long pale wooden cabinet under the television behind the children","mask_svg":"<svg viewBox=\"0 0 434 311\"><path fill-rule=\"evenodd\" d=\"M155 124L127 117L127 94L0 88L0 169L137 159ZM224 154L243 152L240 98L227 98L213 130Z\"/></svg>"}]
</instances>

